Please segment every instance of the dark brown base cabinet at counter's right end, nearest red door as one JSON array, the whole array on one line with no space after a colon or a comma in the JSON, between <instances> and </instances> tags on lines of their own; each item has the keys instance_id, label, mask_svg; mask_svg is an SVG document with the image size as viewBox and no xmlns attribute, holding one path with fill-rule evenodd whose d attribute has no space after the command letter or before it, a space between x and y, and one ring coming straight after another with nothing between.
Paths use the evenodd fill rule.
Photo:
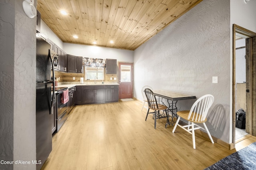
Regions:
<instances>
[{"instance_id":1,"label":"dark brown base cabinet at counter's right end, nearest red door","mask_svg":"<svg viewBox=\"0 0 256 170\"><path fill-rule=\"evenodd\" d=\"M107 85L106 86L106 103L110 102L118 102L119 93L118 93L118 85Z\"/></svg>"}]
</instances>

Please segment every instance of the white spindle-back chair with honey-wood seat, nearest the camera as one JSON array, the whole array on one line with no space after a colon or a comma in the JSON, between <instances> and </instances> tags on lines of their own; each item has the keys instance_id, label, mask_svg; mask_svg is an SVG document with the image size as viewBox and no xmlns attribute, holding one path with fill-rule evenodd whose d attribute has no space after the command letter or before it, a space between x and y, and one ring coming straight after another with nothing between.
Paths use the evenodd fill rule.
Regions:
<instances>
[{"instance_id":1,"label":"white spindle-back chair with honey-wood seat, nearest the camera","mask_svg":"<svg viewBox=\"0 0 256 170\"><path fill-rule=\"evenodd\" d=\"M205 122L207 121L206 115L210 107L212 106L213 102L214 97L211 94L206 94L200 97L198 100L196 100L196 102L193 104L190 110L178 111L177 115L179 117L175 123L172 133L174 133L178 125L179 127L181 127L182 129L184 129L185 131L192 135L193 148L196 149L195 130L202 128L207 132L211 142L214 143L214 141L212 140L212 136L205 124ZM180 118L187 120L188 125L180 125ZM198 123L202 123L204 125L204 128L197 125Z\"/></svg>"}]
</instances>

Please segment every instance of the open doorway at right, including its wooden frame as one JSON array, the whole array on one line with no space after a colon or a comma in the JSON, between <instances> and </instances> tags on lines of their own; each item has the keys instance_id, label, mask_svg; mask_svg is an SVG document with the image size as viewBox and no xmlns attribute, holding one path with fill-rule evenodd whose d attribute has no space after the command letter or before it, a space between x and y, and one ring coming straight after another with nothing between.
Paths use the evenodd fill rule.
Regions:
<instances>
[{"instance_id":1,"label":"open doorway at right, including its wooden frame","mask_svg":"<svg viewBox=\"0 0 256 170\"><path fill-rule=\"evenodd\" d=\"M233 24L232 61L232 144L242 140L244 135L254 135L256 130L252 117L256 115L253 98L256 97L256 33ZM245 129L236 128L236 111L246 111ZM242 131L240 131L242 130ZM241 135L241 136L239 136Z\"/></svg>"}]
</instances>

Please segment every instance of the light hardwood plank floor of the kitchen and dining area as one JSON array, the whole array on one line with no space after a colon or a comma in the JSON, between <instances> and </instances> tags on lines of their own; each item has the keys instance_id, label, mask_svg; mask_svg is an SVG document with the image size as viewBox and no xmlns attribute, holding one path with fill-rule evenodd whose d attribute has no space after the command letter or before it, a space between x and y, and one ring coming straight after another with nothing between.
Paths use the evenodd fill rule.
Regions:
<instances>
[{"instance_id":1,"label":"light hardwood plank floor of the kitchen and dining area","mask_svg":"<svg viewBox=\"0 0 256 170\"><path fill-rule=\"evenodd\" d=\"M42 170L202 170L236 152L196 133L177 127L156 129L138 101L75 106L60 131L52 138L52 152ZM249 137L238 149L256 141ZM238 150L237 149L237 150Z\"/></svg>"}]
</instances>

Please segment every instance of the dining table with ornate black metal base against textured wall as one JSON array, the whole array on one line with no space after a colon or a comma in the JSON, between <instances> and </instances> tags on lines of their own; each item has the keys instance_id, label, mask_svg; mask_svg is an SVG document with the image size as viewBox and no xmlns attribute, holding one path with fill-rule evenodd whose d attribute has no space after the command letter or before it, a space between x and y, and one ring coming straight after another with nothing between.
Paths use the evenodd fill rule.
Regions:
<instances>
[{"instance_id":1,"label":"dining table with ornate black metal base against textured wall","mask_svg":"<svg viewBox=\"0 0 256 170\"><path fill-rule=\"evenodd\" d=\"M188 99L196 99L196 96L192 96L189 94L182 94L182 93L177 93L177 92L172 92L168 90L152 90L155 96L158 96L158 100L162 102L163 105L168 107L167 109L167 122L165 125L165 128L167 125L174 125L176 123L176 120L174 120L174 117L178 119L177 116L177 102L178 100L188 100ZM167 103L164 102L164 99L167 100ZM171 113L171 115L170 115ZM172 118L172 121L169 120L169 117Z\"/></svg>"}]
</instances>

